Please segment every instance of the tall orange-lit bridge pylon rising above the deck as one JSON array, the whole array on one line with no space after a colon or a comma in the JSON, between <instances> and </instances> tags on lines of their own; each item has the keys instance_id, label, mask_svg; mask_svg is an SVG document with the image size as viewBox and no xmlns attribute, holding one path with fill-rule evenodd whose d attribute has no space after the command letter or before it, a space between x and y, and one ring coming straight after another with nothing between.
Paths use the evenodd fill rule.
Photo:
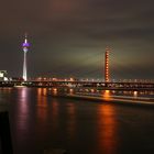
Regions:
<instances>
[{"instance_id":1,"label":"tall orange-lit bridge pylon rising above the deck","mask_svg":"<svg viewBox=\"0 0 154 154\"><path fill-rule=\"evenodd\" d=\"M105 81L109 81L109 48L106 48L105 54Z\"/></svg>"}]
</instances>

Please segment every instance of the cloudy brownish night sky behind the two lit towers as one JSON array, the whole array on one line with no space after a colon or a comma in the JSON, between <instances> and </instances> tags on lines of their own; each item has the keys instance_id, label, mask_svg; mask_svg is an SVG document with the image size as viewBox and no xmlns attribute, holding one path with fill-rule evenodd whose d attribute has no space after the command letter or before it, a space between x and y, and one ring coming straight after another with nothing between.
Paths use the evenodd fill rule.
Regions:
<instances>
[{"instance_id":1,"label":"cloudy brownish night sky behind the two lit towers","mask_svg":"<svg viewBox=\"0 0 154 154\"><path fill-rule=\"evenodd\" d=\"M154 79L153 0L1 0L0 69L22 76L103 78L110 46L112 79Z\"/></svg>"}]
</instances>

